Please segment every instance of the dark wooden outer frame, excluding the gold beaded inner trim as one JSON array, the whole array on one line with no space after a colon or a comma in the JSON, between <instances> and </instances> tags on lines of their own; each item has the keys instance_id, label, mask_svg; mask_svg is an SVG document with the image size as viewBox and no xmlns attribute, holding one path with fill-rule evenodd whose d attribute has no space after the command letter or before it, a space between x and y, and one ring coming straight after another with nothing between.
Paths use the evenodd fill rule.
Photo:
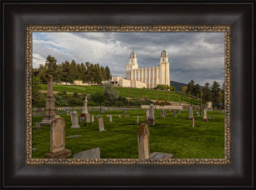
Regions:
<instances>
[{"instance_id":1,"label":"dark wooden outer frame, excluding the gold beaded inner trim","mask_svg":"<svg viewBox=\"0 0 256 190\"><path fill-rule=\"evenodd\" d=\"M254 1L1 1L1 188L255 188L253 7ZM232 166L24 166L24 24L232 24Z\"/></svg>"}]
</instances>

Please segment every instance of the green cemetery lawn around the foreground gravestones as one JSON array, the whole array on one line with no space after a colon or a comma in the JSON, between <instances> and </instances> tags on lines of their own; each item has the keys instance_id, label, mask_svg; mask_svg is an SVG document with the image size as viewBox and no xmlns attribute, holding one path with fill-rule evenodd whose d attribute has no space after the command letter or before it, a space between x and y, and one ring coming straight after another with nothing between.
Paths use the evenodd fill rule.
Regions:
<instances>
[{"instance_id":1,"label":"green cemetery lawn around the foreground gravestones","mask_svg":"<svg viewBox=\"0 0 256 190\"><path fill-rule=\"evenodd\" d=\"M150 153L172 153L172 158L224 158L224 114L218 111L208 111L208 117L215 119L203 122L203 116L194 116L195 127L191 127L188 111L181 111L178 117L166 115L160 119L161 110L155 110L156 125L149 125ZM193 111L195 115L196 111ZM99 111L91 111L96 116ZM130 117L124 117L122 110L105 111L101 113L104 121L109 121L107 114L112 115L112 122L104 123L107 131L99 132L97 119L92 124L80 124L80 129L71 129L71 116L59 114L66 122L66 137L81 135L77 138L65 138L66 149L73 154L100 147L101 158L139 158L136 117L140 115L140 123L145 120L142 109L127 110ZM78 114L80 115L80 113ZM122 118L118 116L121 115ZM41 122L43 116L32 117L32 127L35 122ZM32 158L43 158L50 152L50 126L42 126L41 130L32 130Z\"/></svg>"}]
</instances>

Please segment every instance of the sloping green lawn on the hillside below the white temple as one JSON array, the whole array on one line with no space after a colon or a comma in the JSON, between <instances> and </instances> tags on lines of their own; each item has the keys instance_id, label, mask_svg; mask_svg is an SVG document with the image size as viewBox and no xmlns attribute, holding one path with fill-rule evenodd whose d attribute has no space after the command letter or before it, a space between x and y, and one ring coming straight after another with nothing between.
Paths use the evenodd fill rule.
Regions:
<instances>
[{"instance_id":1,"label":"sloping green lawn on the hillside below the white temple","mask_svg":"<svg viewBox=\"0 0 256 190\"><path fill-rule=\"evenodd\" d=\"M116 90L120 91L121 96L125 97L149 97L151 100L157 100L163 98L166 101L174 101L189 104L189 97L178 92L178 91L165 91L165 90L154 90L154 89L135 89L135 88L124 88L115 87ZM40 90L47 90L47 84L42 84ZM78 86L78 85L53 85L53 91L66 91L67 93L87 93L93 94L95 92L101 92L102 86ZM200 105L198 99L191 98L193 105Z\"/></svg>"}]
</instances>

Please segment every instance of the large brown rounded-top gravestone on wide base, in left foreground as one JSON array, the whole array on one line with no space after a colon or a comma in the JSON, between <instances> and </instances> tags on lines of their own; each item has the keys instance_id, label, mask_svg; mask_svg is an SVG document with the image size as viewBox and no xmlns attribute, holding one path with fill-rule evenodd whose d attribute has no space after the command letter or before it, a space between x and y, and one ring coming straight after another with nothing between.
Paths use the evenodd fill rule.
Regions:
<instances>
[{"instance_id":1,"label":"large brown rounded-top gravestone on wide base, in left foreground","mask_svg":"<svg viewBox=\"0 0 256 190\"><path fill-rule=\"evenodd\" d=\"M45 158L67 158L71 156L71 151L65 149L65 120L62 117L52 120L50 138L50 152L44 155Z\"/></svg>"}]
</instances>

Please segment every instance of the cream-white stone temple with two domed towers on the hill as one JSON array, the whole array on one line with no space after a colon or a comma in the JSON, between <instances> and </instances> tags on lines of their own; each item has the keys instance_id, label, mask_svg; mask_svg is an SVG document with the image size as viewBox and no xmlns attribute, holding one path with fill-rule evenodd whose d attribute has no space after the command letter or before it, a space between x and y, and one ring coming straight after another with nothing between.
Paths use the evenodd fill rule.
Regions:
<instances>
[{"instance_id":1,"label":"cream-white stone temple with two domed towers on the hill","mask_svg":"<svg viewBox=\"0 0 256 190\"><path fill-rule=\"evenodd\" d=\"M120 76L112 76L111 83L122 87L131 88L155 88L157 84L170 85L169 62L166 50L160 56L160 62L156 67L139 68L136 53L132 50L129 64L126 65L126 79Z\"/></svg>"}]
</instances>

